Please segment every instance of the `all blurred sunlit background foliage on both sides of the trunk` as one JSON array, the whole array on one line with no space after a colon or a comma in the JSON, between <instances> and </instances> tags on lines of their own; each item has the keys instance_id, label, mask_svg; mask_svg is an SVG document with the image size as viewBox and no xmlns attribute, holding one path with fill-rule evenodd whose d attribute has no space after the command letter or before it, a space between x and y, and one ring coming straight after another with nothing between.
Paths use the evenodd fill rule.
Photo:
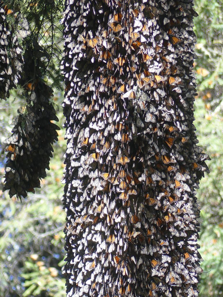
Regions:
<instances>
[{"instance_id":1,"label":"all blurred sunlit background foliage on both sides of the trunk","mask_svg":"<svg viewBox=\"0 0 223 297\"><path fill-rule=\"evenodd\" d=\"M194 20L197 35L194 62L197 73L195 126L199 145L211 157L211 173L200 182L197 197L201 204L200 253L204 273L200 297L223 296L223 0L195 0L199 16ZM59 33L58 33L59 34ZM60 37L62 38L62 36ZM62 48L62 42L57 46ZM54 81L49 81L49 84ZM60 120L59 141L54 144L50 171L36 194L22 203L2 193L4 144L10 136L13 117L25 104L20 90L11 92L0 106L0 297L65 297L61 267L65 258L65 211L60 182L66 149L62 128L63 93L54 91Z\"/></svg>"}]
</instances>

